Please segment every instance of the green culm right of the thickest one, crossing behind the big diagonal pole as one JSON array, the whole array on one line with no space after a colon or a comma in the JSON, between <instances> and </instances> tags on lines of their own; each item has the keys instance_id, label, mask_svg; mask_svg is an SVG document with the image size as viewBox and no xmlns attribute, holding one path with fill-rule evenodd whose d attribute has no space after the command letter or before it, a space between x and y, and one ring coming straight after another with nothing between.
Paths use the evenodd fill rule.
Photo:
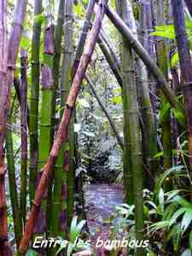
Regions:
<instances>
[{"instance_id":1,"label":"green culm right of the thickest one, crossing behind the big diagonal pole","mask_svg":"<svg viewBox=\"0 0 192 256\"><path fill-rule=\"evenodd\" d=\"M141 3L140 14L140 26L141 26L141 43L146 47L148 44L148 26L146 17L146 3ZM146 42L147 41L147 42ZM141 113L143 118L143 149L144 149L144 161L148 168L149 173L155 177L158 174L159 160L154 158L154 155L158 152L157 147L157 131L154 119L154 110L152 108L149 85L148 85L148 70L145 67L143 61L138 59L138 72L139 72L139 91L141 92ZM148 180L148 178L147 178ZM151 178L149 183L145 181L146 186L149 185L153 189L154 182L151 184Z\"/></svg>"}]
</instances>

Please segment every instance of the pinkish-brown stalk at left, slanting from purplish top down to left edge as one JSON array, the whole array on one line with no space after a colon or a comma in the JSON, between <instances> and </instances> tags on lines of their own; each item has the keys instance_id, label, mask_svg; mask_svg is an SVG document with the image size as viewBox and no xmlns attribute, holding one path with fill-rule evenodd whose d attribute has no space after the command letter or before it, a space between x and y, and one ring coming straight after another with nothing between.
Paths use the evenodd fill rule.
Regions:
<instances>
[{"instance_id":1,"label":"pinkish-brown stalk at left, slanting from purplish top down to left edge","mask_svg":"<svg viewBox=\"0 0 192 256\"><path fill-rule=\"evenodd\" d=\"M1 1L1 14L6 13L6 1ZM6 47L6 30L5 30L5 15L0 15L3 17L3 22L0 21L1 27L4 30L4 37L0 38L0 41L3 42L4 55L3 60L0 60L1 65L0 70L0 251L6 254L6 243L8 241L8 230L7 230L7 206L4 190L4 150L3 143L5 138L6 131L6 121L9 112L9 94L10 94L10 85L14 81L14 71L15 71L15 62L20 46L20 36L22 32L22 24L26 15L26 0L18 0L15 4L13 25L10 32L8 50ZM2 29L0 29L3 31Z\"/></svg>"}]
</instances>

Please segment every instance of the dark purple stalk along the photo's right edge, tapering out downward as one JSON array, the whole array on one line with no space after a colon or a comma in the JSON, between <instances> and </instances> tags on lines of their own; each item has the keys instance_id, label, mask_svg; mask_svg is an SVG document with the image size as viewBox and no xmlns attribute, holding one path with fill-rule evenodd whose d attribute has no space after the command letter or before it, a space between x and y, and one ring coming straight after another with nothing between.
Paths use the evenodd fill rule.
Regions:
<instances>
[{"instance_id":1,"label":"dark purple stalk along the photo's right edge, tapering out downward","mask_svg":"<svg viewBox=\"0 0 192 256\"><path fill-rule=\"evenodd\" d=\"M172 0L172 14L177 38L177 49L179 55L181 74L183 79L183 96L188 131L189 165L191 169L190 189L192 195L192 63L185 26L183 1Z\"/></svg>"}]
</instances>

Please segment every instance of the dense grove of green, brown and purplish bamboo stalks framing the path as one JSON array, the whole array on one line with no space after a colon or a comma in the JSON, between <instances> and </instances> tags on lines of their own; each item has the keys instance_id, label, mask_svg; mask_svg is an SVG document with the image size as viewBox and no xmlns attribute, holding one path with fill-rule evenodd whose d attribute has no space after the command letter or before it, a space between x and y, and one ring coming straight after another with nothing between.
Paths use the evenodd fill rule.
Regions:
<instances>
[{"instance_id":1,"label":"dense grove of green, brown and purplish bamboo stalks framing the path","mask_svg":"<svg viewBox=\"0 0 192 256\"><path fill-rule=\"evenodd\" d=\"M185 206L192 202L192 3L45 2L0 0L0 256L26 255L32 249L37 255L56 255L58 247L35 250L32 241L37 236L69 239L73 217L84 216L75 207L84 179L76 175L81 145L74 131L84 84L119 145L124 202L135 207L135 237L143 241L150 236L143 191L155 191L160 176L184 166L185 177L175 171L177 177L166 176L163 189L169 193L185 183ZM106 23L115 37L108 35ZM120 90L122 131L96 89L96 49ZM20 115L17 149L15 108ZM9 239L8 194L14 242ZM138 247L134 255L156 254Z\"/></svg>"}]
</instances>

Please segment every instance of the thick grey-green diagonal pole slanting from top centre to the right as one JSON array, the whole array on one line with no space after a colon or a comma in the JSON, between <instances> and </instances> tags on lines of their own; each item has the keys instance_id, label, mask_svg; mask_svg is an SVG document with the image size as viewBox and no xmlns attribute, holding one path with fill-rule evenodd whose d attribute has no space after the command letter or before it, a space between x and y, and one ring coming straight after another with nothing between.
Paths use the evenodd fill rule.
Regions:
<instances>
[{"instance_id":1,"label":"thick grey-green diagonal pole slanting from top centre to the right","mask_svg":"<svg viewBox=\"0 0 192 256\"><path fill-rule=\"evenodd\" d=\"M174 91L167 83L163 73L160 71L160 68L157 67L152 58L148 55L148 52L143 48L143 45L140 44L137 38L134 37L130 28L125 25L125 22L121 20L119 15L117 15L109 6L106 9L106 14L108 15L109 20L113 22L113 25L126 38L127 42L131 44L131 48L135 50L137 55L141 58L143 63L146 65L146 67L148 67L149 71L153 74L154 78L160 85L160 89L163 91L167 100L171 103L172 107L178 108L177 97L175 96Z\"/></svg>"}]
</instances>

